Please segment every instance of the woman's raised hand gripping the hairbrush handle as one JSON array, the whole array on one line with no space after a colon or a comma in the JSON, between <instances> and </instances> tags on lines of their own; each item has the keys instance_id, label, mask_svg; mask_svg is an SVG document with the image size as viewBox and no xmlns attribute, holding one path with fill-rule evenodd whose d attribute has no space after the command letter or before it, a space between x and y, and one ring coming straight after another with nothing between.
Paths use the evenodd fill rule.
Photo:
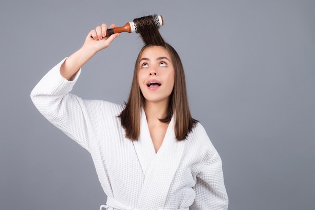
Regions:
<instances>
[{"instance_id":1,"label":"woman's raised hand gripping the hairbrush handle","mask_svg":"<svg viewBox=\"0 0 315 210\"><path fill-rule=\"evenodd\" d=\"M109 28L113 29L115 27L116 25L112 24ZM106 37L106 32L107 25L105 23L103 23L102 26L96 27L95 30L91 30L82 48L95 51L95 53L107 48L119 34L112 34Z\"/></svg>"}]
</instances>

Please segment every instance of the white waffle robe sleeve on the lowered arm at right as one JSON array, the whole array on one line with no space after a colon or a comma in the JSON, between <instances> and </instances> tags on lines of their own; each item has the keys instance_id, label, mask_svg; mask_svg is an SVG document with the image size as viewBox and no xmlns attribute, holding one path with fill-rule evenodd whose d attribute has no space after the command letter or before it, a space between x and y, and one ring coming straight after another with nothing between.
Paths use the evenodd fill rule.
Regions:
<instances>
[{"instance_id":1,"label":"white waffle robe sleeve on the lowered arm at right","mask_svg":"<svg viewBox=\"0 0 315 210\"><path fill-rule=\"evenodd\" d=\"M201 133L207 143L203 143L203 148L206 149L202 152L203 158L196 167L196 184L193 187L195 200L190 209L227 209L228 196L224 185L221 158L205 131Z\"/></svg>"}]
</instances>

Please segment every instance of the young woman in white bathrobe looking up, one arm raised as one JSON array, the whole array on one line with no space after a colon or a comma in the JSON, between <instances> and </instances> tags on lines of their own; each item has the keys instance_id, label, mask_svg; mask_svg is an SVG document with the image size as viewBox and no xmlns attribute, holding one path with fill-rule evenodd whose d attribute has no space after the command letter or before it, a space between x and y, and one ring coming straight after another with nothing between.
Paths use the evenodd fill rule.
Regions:
<instances>
[{"instance_id":1,"label":"young woman in white bathrobe looking up, one arm raised","mask_svg":"<svg viewBox=\"0 0 315 210\"><path fill-rule=\"evenodd\" d=\"M31 93L41 114L91 153L108 196L101 208L227 209L221 159L191 118L183 66L169 44L141 49L126 104L69 93L81 67L119 36L106 30L92 30Z\"/></svg>"}]
</instances>

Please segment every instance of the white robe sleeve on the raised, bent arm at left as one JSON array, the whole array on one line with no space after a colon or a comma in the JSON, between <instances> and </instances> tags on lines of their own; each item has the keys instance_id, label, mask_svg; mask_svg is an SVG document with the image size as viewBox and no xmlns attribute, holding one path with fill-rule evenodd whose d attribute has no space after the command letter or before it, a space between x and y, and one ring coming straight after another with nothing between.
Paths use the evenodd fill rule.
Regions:
<instances>
[{"instance_id":1,"label":"white robe sleeve on the raised, bent arm at left","mask_svg":"<svg viewBox=\"0 0 315 210\"><path fill-rule=\"evenodd\" d=\"M92 104L69 93L81 69L72 76L71 81L68 81L60 74L60 66L65 59L38 82L31 92L31 99L49 122L90 152L90 141L95 135L93 116L96 116L91 110L98 110L95 107L98 103L94 102L94 108L89 108Z\"/></svg>"}]
</instances>

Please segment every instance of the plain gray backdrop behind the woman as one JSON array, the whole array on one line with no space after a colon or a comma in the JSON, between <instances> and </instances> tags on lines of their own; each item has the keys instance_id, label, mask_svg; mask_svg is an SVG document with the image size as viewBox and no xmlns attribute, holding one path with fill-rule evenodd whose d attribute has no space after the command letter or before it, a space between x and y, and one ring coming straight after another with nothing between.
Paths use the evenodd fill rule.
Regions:
<instances>
[{"instance_id":1,"label":"plain gray backdrop behind the woman","mask_svg":"<svg viewBox=\"0 0 315 210\"><path fill-rule=\"evenodd\" d=\"M229 209L314 209L315 2L1 1L0 209L98 209L92 159L29 94L91 29L162 15L193 117L221 155ZM124 33L73 93L126 100L141 39Z\"/></svg>"}]
</instances>

